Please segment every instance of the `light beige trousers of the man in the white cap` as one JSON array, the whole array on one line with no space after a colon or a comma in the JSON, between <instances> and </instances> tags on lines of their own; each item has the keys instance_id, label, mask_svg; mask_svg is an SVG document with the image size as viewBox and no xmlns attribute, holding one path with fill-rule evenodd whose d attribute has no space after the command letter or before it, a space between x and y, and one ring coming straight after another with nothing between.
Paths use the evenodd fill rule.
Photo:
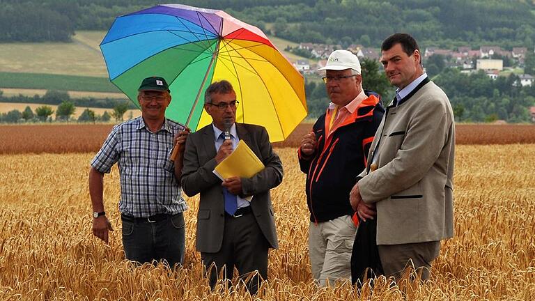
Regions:
<instances>
[{"instance_id":1,"label":"light beige trousers of the man in the white cap","mask_svg":"<svg viewBox=\"0 0 535 301\"><path fill-rule=\"evenodd\" d=\"M357 227L350 215L309 226L312 276L321 286L351 280L351 252Z\"/></svg>"}]
</instances>

